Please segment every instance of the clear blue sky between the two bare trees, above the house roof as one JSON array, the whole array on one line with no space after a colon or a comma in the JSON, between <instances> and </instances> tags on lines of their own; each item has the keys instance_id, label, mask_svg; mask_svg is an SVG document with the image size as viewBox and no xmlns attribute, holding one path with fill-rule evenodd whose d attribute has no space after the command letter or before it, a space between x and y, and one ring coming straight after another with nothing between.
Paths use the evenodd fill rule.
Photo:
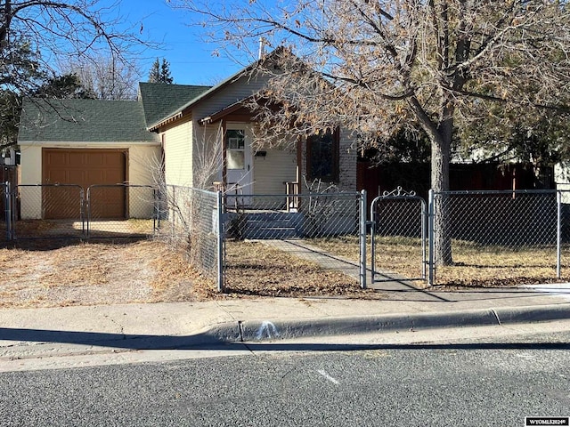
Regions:
<instances>
[{"instance_id":1,"label":"clear blue sky between the two bare trees, above the house roof","mask_svg":"<svg viewBox=\"0 0 570 427\"><path fill-rule=\"evenodd\" d=\"M170 63L171 75L180 85L214 85L241 68L230 59L213 56L217 46L205 43L199 28L188 26L191 16L172 9L165 0L121 0L120 15L128 21L127 26L139 28L142 23L142 36L164 45L164 49L144 53L140 61L142 81L147 80L156 58Z\"/></svg>"}]
</instances>

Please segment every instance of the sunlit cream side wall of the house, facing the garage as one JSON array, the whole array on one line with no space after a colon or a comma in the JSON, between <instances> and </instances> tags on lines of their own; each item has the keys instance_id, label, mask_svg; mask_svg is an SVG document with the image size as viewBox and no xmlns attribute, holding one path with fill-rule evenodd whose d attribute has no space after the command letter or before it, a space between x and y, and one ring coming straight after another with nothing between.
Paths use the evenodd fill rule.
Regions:
<instances>
[{"instance_id":1,"label":"sunlit cream side wall of the house, facing the garage","mask_svg":"<svg viewBox=\"0 0 570 427\"><path fill-rule=\"evenodd\" d=\"M192 122L176 124L162 133L167 185L192 185Z\"/></svg>"}]
</instances>

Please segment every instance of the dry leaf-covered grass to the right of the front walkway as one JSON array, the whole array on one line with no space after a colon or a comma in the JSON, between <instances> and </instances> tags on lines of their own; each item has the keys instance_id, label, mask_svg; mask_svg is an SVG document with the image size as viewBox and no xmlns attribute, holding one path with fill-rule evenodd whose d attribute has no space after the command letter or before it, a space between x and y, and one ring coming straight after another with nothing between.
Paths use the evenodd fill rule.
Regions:
<instances>
[{"instance_id":1,"label":"dry leaf-covered grass to the right of the front walkway","mask_svg":"<svg viewBox=\"0 0 570 427\"><path fill-rule=\"evenodd\" d=\"M405 278L418 278L421 273L419 239L378 238L377 270L393 271ZM315 239L312 242L331 254L357 261L358 240L354 237ZM371 262L370 245L367 249ZM570 250L562 254L562 278L556 277L556 248L477 246L453 243L453 265L436 269L436 286L447 289L462 287L504 287L556 283L570 280ZM566 264L564 261L566 260ZM566 275L565 275L566 272Z\"/></svg>"}]
</instances>

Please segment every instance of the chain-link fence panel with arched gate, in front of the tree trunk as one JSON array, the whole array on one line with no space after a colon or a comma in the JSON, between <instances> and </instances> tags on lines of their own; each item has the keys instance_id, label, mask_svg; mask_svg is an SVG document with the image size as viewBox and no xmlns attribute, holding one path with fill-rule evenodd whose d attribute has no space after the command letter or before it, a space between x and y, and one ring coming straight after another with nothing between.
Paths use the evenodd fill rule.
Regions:
<instances>
[{"instance_id":1,"label":"chain-link fence panel with arched gate, in front of the tree trunk","mask_svg":"<svg viewBox=\"0 0 570 427\"><path fill-rule=\"evenodd\" d=\"M398 189L372 203L371 241L376 281L518 286L568 280L570 191L432 191L425 204Z\"/></svg>"}]
</instances>

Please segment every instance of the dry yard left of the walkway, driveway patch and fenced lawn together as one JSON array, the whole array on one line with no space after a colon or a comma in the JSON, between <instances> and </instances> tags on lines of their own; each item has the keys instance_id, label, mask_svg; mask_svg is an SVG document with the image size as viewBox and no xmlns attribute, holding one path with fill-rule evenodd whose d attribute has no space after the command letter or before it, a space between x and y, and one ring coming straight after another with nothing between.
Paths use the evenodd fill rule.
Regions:
<instances>
[{"instance_id":1,"label":"dry yard left of the walkway, driveway patch and fenced lawn together","mask_svg":"<svg viewBox=\"0 0 570 427\"><path fill-rule=\"evenodd\" d=\"M30 241L0 248L0 308L191 302L220 298L334 295L378 298L341 273L265 251L230 251L226 293L182 252L157 240ZM237 267L237 268L236 268ZM325 279L323 279L325 278Z\"/></svg>"}]
</instances>

